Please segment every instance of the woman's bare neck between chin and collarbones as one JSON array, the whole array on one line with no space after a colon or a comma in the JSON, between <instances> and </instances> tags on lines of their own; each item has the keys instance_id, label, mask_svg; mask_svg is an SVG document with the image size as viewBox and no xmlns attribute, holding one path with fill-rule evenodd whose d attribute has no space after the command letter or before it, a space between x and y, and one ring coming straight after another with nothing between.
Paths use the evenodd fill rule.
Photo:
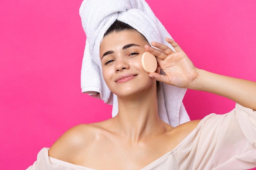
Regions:
<instances>
[{"instance_id":1,"label":"woman's bare neck between chin and collarbones","mask_svg":"<svg viewBox=\"0 0 256 170\"><path fill-rule=\"evenodd\" d=\"M118 106L119 113L113 118L116 129L132 143L159 135L168 127L158 116L155 91L129 99L118 97Z\"/></svg>"}]
</instances>

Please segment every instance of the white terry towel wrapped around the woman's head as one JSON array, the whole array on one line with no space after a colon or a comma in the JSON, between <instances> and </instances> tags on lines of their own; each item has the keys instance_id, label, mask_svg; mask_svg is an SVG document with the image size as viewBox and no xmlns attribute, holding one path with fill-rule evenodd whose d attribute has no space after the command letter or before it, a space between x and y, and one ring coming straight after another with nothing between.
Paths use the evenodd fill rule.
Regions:
<instances>
[{"instance_id":1,"label":"white terry towel wrapped around the woman's head","mask_svg":"<svg viewBox=\"0 0 256 170\"><path fill-rule=\"evenodd\" d=\"M83 0L79 14L87 37L81 69L82 92L113 104L114 117L118 113L117 96L109 90L101 72L99 47L103 35L115 20L129 24L148 42L160 42L173 49L165 41L165 37L171 38L171 35L144 0ZM186 89L160 84L157 99L161 119L174 127L189 121L182 103Z\"/></svg>"}]
</instances>

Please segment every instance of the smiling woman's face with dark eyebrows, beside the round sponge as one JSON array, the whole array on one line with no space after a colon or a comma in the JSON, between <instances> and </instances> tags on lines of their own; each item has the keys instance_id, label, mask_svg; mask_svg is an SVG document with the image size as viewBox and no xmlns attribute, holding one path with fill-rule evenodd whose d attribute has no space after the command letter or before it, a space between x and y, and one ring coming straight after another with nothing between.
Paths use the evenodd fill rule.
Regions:
<instances>
[{"instance_id":1,"label":"smiling woman's face with dark eyebrows, beside the round sponge","mask_svg":"<svg viewBox=\"0 0 256 170\"><path fill-rule=\"evenodd\" d=\"M149 45L137 31L113 32L103 38L102 73L112 93L123 97L137 95L155 84L155 79L148 76L141 64L146 44Z\"/></svg>"}]
</instances>

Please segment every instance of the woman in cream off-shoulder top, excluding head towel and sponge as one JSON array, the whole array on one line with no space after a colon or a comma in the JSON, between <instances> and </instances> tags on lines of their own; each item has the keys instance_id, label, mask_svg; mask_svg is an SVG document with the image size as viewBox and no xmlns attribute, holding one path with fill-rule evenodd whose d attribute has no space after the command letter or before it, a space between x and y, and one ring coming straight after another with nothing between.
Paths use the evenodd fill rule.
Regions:
<instances>
[{"instance_id":1,"label":"woman in cream off-shoulder top, excluding head towel and sponge","mask_svg":"<svg viewBox=\"0 0 256 170\"><path fill-rule=\"evenodd\" d=\"M82 170L234 170L256 167L256 83L216 75L193 66L176 42L152 42L119 21L99 49L103 78L117 95L117 116L71 128L49 148L49 160L31 167ZM156 56L146 73L142 54ZM160 69L166 75L160 75ZM225 115L173 127L158 115L157 81L222 95L236 108ZM43 152L47 152L45 149ZM43 167L43 168L42 168Z\"/></svg>"}]
</instances>

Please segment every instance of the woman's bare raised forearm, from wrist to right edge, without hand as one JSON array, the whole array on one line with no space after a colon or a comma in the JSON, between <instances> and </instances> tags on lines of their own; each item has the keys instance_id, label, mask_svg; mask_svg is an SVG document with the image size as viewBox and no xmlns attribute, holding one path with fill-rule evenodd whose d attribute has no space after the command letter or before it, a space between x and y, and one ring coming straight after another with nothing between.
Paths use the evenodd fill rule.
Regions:
<instances>
[{"instance_id":1,"label":"woman's bare raised forearm, from wrist to right edge, without hand","mask_svg":"<svg viewBox=\"0 0 256 170\"><path fill-rule=\"evenodd\" d=\"M207 91L234 100L256 110L256 82L214 74L199 69L198 78L189 88Z\"/></svg>"}]
</instances>

